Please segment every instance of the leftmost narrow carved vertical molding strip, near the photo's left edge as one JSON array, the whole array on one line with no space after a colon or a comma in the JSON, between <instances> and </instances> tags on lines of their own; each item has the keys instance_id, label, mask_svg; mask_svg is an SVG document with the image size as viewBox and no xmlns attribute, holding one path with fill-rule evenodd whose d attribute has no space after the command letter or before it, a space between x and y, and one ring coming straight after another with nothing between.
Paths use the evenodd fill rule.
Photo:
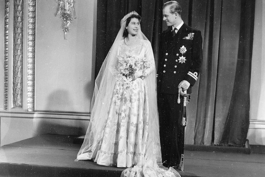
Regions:
<instances>
[{"instance_id":1,"label":"leftmost narrow carved vertical molding strip, near the photo's left edge","mask_svg":"<svg viewBox=\"0 0 265 177\"><path fill-rule=\"evenodd\" d=\"M8 110L9 0L5 0L4 110Z\"/></svg>"}]
</instances>

